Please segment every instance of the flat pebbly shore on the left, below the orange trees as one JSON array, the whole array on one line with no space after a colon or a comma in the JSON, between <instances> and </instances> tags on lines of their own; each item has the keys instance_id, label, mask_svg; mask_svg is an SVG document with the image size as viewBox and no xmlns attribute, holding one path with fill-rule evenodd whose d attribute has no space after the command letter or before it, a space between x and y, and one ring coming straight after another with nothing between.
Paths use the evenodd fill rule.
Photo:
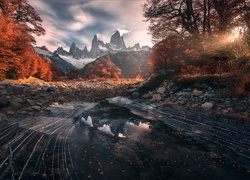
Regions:
<instances>
[{"instance_id":1,"label":"flat pebbly shore on the left, below the orange trees","mask_svg":"<svg viewBox=\"0 0 250 180\"><path fill-rule=\"evenodd\" d=\"M53 103L69 101L98 102L130 95L135 81L69 81L15 84L0 82L0 120L46 111Z\"/></svg>"}]
</instances>

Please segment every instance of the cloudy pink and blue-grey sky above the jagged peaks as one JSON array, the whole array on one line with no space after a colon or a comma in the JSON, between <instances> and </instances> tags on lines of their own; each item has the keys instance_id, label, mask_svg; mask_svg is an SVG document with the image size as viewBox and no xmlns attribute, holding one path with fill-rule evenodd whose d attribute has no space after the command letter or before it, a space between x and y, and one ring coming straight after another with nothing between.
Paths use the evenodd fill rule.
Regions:
<instances>
[{"instance_id":1,"label":"cloudy pink and blue-grey sky above the jagged peaks","mask_svg":"<svg viewBox=\"0 0 250 180\"><path fill-rule=\"evenodd\" d=\"M58 47L69 50L72 42L83 49L91 48L95 34L104 43L119 30L126 46L152 46L148 22L143 17L145 0L29 0L43 19L45 36L36 38L37 46L50 51Z\"/></svg>"}]
</instances>

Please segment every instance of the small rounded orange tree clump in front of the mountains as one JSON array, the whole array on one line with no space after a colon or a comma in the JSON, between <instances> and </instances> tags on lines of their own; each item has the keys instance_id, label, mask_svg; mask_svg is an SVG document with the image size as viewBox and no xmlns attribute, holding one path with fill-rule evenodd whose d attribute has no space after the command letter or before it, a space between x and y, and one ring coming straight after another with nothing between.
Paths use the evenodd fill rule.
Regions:
<instances>
[{"instance_id":1,"label":"small rounded orange tree clump in front of the mountains","mask_svg":"<svg viewBox=\"0 0 250 180\"><path fill-rule=\"evenodd\" d=\"M99 58L95 63L90 64L85 73L88 79L95 78L115 78L119 79L121 69L115 66L110 60Z\"/></svg>"}]
</instances>

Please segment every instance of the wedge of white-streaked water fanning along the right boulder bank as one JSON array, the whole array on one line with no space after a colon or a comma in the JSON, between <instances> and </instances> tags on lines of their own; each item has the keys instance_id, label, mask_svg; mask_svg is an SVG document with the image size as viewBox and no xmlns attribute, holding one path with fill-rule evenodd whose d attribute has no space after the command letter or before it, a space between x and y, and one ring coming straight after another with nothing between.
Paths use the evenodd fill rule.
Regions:
<instances>
[{"instance_id":1,"label":"wedge of white-streaked water fanning along the right boulder bank","mask_svg":"<svg viewBox=\"0 0 250 180\"><path fill-rule=\"evenodd\" d=\"M129 101L129 104L124 103ZM250 169L250 122L223 115L171 107L124 98L109 99L110 103L127 107L144 118L158 117L172 129L193 137L199 143ZM151 107L151 108L149 108Z\"/></svg>"}]
</instances>

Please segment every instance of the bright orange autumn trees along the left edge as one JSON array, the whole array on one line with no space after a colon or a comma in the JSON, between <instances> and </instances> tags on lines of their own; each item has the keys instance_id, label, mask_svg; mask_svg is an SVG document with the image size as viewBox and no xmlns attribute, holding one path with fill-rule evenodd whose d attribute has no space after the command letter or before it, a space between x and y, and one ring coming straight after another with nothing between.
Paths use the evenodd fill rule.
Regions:
<instances>
[{"instance_id":1,"label":"bright orange autumn trees along the left edge","mask_svg":"<svg viewBox=\"0 0 250 180\"><path fill-rule=\"evenodd\" d=\"M26 0L0 1L0 80L35 76L52 80L51 62L37 55L32 34L43 35L42 20Z\"/></svg>"}]
</instances>

